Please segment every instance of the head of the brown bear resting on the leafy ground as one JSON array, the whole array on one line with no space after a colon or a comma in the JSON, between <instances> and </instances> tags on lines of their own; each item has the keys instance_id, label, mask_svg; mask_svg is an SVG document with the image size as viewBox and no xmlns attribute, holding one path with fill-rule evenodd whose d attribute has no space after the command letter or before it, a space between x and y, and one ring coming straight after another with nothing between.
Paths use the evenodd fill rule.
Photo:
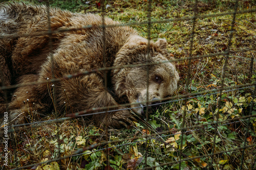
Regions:
<instances>
[{"instance_id":1,"label":"head of the brown bear resting on the leafy ground","mask_svg":"<svg viewBox=\"0 0 256 170\"><path fill-rule=\"evenodd\" d=\"M175 66L169 60L165 39L148 44L139 36L131 37L116 55L112 83L120 101L131 103L137 114L143 115L143 106L160 103L173 95L179 80ZM148 55L149 54L149 55Z\"/></svg>"}]
</instances>

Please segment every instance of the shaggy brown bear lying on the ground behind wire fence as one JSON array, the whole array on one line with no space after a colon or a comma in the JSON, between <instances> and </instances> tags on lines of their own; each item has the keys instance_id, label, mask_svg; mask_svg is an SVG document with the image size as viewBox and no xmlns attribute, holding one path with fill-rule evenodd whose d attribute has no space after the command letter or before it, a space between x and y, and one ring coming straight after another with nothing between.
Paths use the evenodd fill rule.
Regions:
<instances>
[{"instance_id":1,"label":"shaggy brown bear lying on the ground behind wire fence","mask_svg":"<svg viewBox=\"0 0 256 170\"><path fill-rule=\"evenodd\" d=\"M148 41L110 18L104 18L103 28L95 14L50 8L49 16L45 6L0 6L0 83L34 82L0 91L1 114L9 110L12 123L52 110L101 111L90 117L97 125L120 128L135 120L132 112L144 113L146 99L152 104L177 89L179 76L168 61L166 40ZM5 94L12 93L6 104Z\"/></svg>"}]
</instances>

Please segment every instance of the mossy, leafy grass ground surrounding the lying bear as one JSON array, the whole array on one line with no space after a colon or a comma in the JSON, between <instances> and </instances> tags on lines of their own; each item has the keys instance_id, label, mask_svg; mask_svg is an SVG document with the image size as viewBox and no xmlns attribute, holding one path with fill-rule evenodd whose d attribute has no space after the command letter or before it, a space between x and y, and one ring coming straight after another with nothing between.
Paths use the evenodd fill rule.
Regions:
<instances>
[{"instance_id":1,"label":"mossy, leafy grass ground surrounding the lying bear","mask_svg":"<svg viewBox=\"0 0 256 170\"><path fill-rule=\"evenodd\" d=\"M45 4L35 0L23 2ZM152 20L191 17L194 2L154 1ZM73 12L100 14L94 1L50 1L50 4ZM197 12L198 15L230 12L234 4L235 1L198 1ZM110 5L105 12L114 20L124 23L147 20L146 0L107 1L105 5ZM238 4L238 10L255 8L253 1ZM242 164L242 169L255 169L256 100L253 87L212 93L220 92L221 87L255 83L255 12L238 14L234 31L231 31L231 20L231 15L196 19L193 45L190 45L191 20L153 23L151 38L165 38L167 50L179 60L176 67L181 80L177 100L162 105L147 122L139 120L131 129L99 129L78 118L20 131L9 148L9 168L51 160L34 168L240 169ZM132 27L147 37L147 25ZM231 45L228 46L231 34ZM186 59L227 50L230 52L227 55ZM250 71L251 58L254 61ZM184 95L194 98L183 100ZM241 118L250 114L249 120ZM43 120L53 118L49 116ZM252 147L239 149L244 144ZM58 160L74 152L78 154Z\"/></svg>"}]
</instances>

